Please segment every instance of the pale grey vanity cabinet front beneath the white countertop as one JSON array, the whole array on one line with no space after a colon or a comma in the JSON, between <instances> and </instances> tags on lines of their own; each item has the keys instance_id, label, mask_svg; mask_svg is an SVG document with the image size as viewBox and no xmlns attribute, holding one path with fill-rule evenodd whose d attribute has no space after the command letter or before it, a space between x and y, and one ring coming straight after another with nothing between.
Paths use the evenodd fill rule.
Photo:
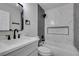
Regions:
<instances>
[{"instance_id":1,"label":"pale grey vanity cabinet front beneath the white countertop","mask_svg":"<svg viewBox=\"0 0 79 59\"><path fill-rule=\"evenodd\" d=\"M38 41L32 42L4 56L37 56Z\"/></svg>"}]
</instances>

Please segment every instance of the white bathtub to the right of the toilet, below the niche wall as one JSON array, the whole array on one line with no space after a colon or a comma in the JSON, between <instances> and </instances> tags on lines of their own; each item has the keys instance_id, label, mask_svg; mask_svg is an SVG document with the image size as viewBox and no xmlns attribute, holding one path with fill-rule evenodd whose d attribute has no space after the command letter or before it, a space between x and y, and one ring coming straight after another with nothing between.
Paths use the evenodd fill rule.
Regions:
<instances>
[{"instance_id":1,"label":"white bathtub to the right of the toilet, below the niche wall","mask_svg":"<svg viewBox=\"0 0 79 59\"><path fill-rule=\"evenodd\" d=\"M44 44L44 46L50 48L54 56L79 56L79 52L73 45L53 43L53 45Z\"/></svg>"}]
</instances>

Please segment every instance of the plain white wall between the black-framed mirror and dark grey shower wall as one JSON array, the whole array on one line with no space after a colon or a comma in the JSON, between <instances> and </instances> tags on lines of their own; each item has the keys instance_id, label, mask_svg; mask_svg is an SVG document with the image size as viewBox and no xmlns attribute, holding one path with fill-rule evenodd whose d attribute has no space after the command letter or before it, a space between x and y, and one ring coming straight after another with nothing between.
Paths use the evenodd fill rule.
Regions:
<instances>
[{"instance_id":1,"label":"plain white wall between the black-framed mirror and dark grey shower wall","mask_svg":"<svg viewBox=\"0 0 79 59\"><path fill-rule=\"evenodd\" d=\"M37 36L38 7L36 3L25 3L24 7L24 31L26 36ZM30 20L30 25L25 24L25 20Z\"/></svg>"}]
</instances>

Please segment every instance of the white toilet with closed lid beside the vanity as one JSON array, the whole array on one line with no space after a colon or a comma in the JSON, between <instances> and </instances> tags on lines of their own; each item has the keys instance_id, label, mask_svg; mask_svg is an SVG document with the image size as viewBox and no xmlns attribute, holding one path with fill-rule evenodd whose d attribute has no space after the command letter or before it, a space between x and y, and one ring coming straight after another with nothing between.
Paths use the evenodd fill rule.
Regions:
<instances>
[{"instance_id":1,"label":"white toilet with closed lid beside the vanity","mask_svg":"<svg viewBox=\"0 0 79 59\"><path fill-rule=\"evenodd\" d=\"M51 50L47 47L38 47L38 53L42 56L51 56Z\"/></svg>"}]
</instances>

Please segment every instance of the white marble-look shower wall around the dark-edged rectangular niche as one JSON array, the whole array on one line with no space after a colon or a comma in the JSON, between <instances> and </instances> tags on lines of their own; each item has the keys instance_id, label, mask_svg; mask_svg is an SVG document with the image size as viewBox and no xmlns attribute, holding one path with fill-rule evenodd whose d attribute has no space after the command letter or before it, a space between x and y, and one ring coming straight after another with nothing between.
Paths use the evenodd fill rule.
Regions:
<instances>
[{"instance_id":1,"label":"white marble-look shower wall around the dark-edged rectangular niche","mask_svg":"<svg viewBox=\"0 0 79 59\"><path fill-rule=\"evenodd\" d=\"M46 11L45 19L45 39L49 44L70 44L73 45L74 30L73 30L73 4L67 4ZM52 22L52 24L51 24ZM69 26L69 35L54 35L47 34L47 27L54 26Z\"/></svg>"}]
</instances>

